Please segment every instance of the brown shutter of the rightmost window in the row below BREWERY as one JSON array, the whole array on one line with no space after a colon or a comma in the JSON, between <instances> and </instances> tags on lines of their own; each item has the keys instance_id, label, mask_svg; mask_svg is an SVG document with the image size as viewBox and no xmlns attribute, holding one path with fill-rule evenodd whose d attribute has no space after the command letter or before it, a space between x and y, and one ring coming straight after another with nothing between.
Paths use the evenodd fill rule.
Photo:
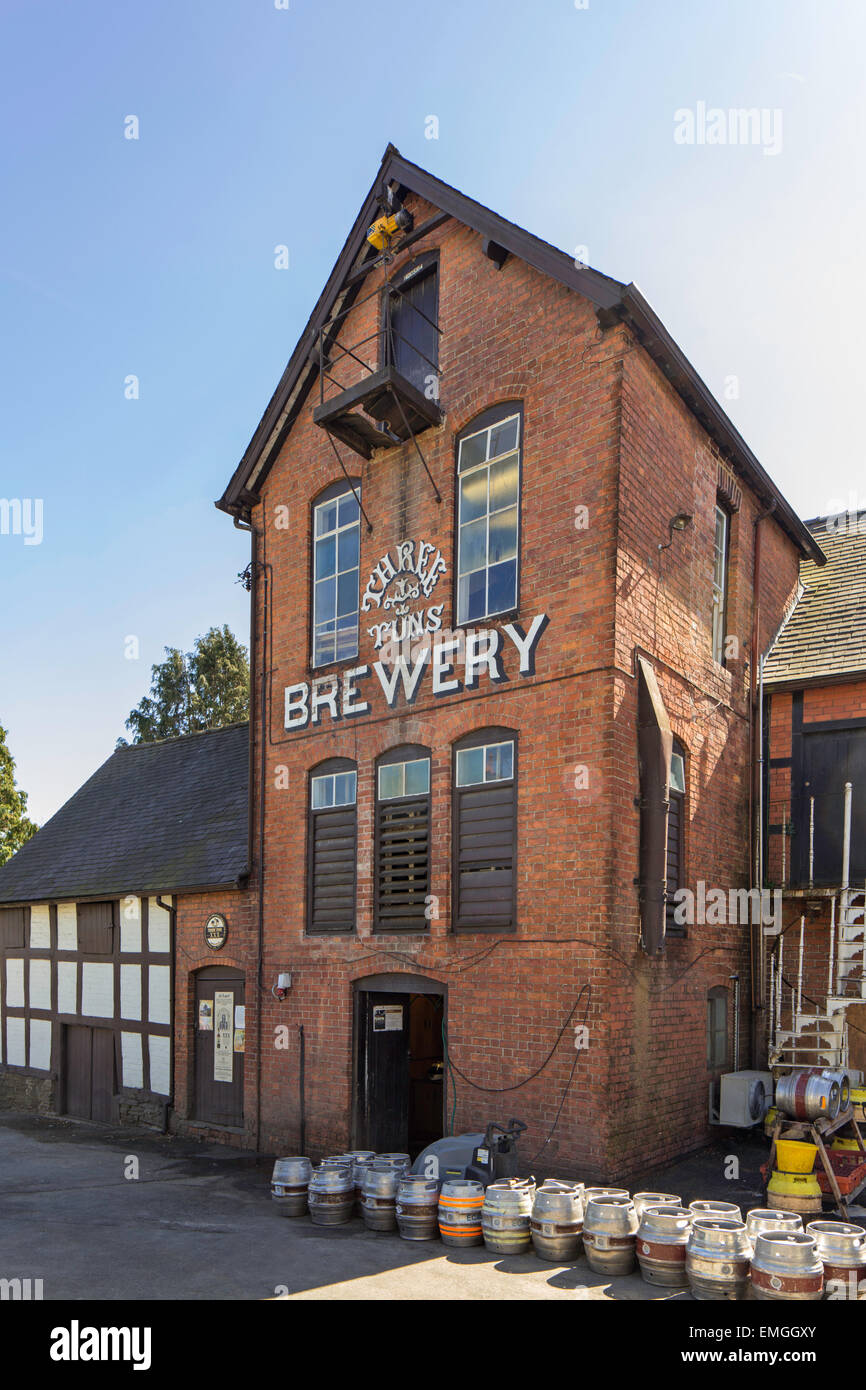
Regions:
<instances>
[{"instance_id":1,"label":"brown shutter of the rightmost window in the row below BREWERY","mask_svg":"<svg viewBox=\"0 0 866 1390\"><path fill-rule=\"evenodd\" d=\"M455 787L455 929L514 926L514 781Z\"/></svg>"}]
</instances>

